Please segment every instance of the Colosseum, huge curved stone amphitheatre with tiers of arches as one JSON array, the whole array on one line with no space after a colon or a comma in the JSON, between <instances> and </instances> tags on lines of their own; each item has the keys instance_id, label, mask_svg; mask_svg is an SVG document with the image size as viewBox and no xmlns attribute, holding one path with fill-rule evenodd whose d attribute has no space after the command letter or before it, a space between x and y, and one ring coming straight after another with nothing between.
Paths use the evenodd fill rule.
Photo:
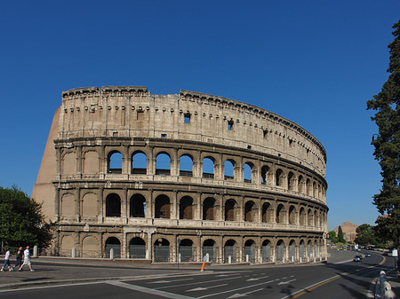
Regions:
<instances>
[{"instance_id":1,"label":"Colosseum, huge curved stone amphitheatre with tiers of arches","mask_svg":"<svg viewBox=\"0 0 400 299\"><path fill-rule=\"evenodd\" d=\"M326 258L324 146L257 106L142 86L62 92L32 197L60 256Z\"/></svg>"}]
</instances>

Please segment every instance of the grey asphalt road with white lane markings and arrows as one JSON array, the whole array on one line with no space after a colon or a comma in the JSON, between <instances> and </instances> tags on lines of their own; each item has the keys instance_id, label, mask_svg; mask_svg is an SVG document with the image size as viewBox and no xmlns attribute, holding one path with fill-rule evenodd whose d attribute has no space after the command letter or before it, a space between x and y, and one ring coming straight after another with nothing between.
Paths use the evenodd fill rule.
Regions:
<instances>
[{"instance_id":1,"label":"grey asphalt road with white lane markings and arrows","mask_svg":"<svg viewBox=\"0 0 400 299\"><path fill-rule=\"evenodd\" d=\"M353 253L350 255L354 256ZM135 270L134 274L137 275L134 279L121 277L97 281L74 281L67 285L3 289L0 291L0 297L11 299L54 297L57 299L366 298L373 297L373 283L379 276L380 270L391 271L393 264L393 258L390 256L372 254L372 257L365 257L361 263L212 267L212 271L204 272L170 269L165 272L156 271L151 275L148 275L148 269L143 268ZM71 267L71 264L58 264L57 267L60 269L65 267L67 273L67 267ZM38 268L40 268L39 265ZM105 277L104 272L107 273L111 269L116 271L115 267L111 268L107 265L81 268L82 271L97 272L100 278ZM140 279L141 272L147 273L147 276ZM25 274L35 275L35 273ZM10 278L12 274L10 273Z\"/></svg>"}]
</instances>

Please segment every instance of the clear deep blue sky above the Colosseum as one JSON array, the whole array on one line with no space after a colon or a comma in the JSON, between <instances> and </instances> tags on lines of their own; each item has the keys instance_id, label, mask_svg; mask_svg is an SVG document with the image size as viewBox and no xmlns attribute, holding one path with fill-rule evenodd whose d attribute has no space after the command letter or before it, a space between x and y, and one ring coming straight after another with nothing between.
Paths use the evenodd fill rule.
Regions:
<instances>
[{"instance_id":1,"label":"clear deep blue sky above the Colosseum","mask_svg":"<svg viewBox=\"0 0 400 299\"><path fill-rule=\"evenodd\" d=\"M324 145L328 228L373 224L365 110L388 74L398 0L2 1L0 185L30 194L61 91L142 85L260 106Z\"/></svg>"}]
</instances>

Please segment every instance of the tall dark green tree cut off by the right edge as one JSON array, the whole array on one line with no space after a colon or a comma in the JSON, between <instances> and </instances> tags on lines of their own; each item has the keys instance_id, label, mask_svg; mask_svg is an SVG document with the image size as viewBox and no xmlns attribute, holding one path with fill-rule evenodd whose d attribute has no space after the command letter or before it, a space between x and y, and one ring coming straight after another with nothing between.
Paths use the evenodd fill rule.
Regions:
<instances>
[{"instance_id":1,"label":"tall dark green tree cut off by the right edge","mask_svg":"<svg viewBox=\"0 0 400 299\"><path fill-rule=\"evenodd\" d=\"M400 20L393 26L395 39L388 44L390 53L388 81L380 93L367 101L367 109L375 110L372 121L379 134L372 138L373 155L380 163L382 187L373 196L381 215L376 221L378 232L385 240L399 246L400 235Z\"/></svg>"}]
</instances>

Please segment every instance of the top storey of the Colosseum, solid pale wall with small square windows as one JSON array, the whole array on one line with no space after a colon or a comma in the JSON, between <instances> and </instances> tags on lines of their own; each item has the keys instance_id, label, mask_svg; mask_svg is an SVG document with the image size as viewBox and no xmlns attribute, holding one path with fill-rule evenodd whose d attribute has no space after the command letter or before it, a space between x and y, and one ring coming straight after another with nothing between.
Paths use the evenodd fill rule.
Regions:
<instances>
[{"instance_id":1,"label":"top storey of the Colosseum, solid pale wall with small square windows","mask_svg":"<svg viewBox=\"0 0 400 299\"><path fill-rule=\"evenodd\" d=\"M151 95L143 86L64 91L58 138L171 138L252 149L325 175L324 146L284 117L236 100L180 90Z\"/></svg>"}]
</instances>

